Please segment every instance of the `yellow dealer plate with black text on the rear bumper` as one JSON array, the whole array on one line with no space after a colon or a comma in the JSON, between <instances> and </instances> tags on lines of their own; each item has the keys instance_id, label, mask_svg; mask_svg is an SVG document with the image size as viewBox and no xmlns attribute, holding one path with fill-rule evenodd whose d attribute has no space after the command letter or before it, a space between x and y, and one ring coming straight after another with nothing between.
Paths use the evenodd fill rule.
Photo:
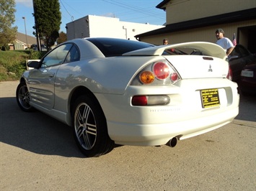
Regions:
<instances>
[{"instance_id":1,"label":"yellow dealer plate with black text on the rear bumper","mask_svg":"<svg viewBox=\"0 0 256 191\"><path fill-rule=\"evenodd\" d=\"M200 90L203 108L211 108L221 105L218 89Z\"/></svg>"}]
</instances>

